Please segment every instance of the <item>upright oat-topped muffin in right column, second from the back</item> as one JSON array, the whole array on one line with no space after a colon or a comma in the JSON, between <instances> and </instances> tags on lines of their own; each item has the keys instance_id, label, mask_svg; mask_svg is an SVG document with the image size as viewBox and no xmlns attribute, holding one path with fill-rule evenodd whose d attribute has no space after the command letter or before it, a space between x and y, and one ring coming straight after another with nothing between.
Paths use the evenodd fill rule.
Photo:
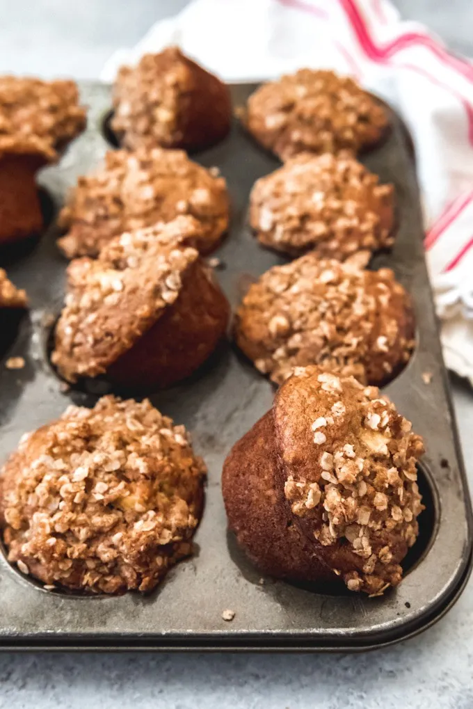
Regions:
<instances>
[{"instance_id":1,"label":"upright oat-topped muffin in right column, second from the back","mask_svg":"<svg viewBox=\"0 0 473 709\"><path fill-rule=\"evenodd\" d=\"M250 224L262 245L290 256L374 252L393 241L394 187L350 155L297 155L255 182Z\"/></svg>"}]
</instances>

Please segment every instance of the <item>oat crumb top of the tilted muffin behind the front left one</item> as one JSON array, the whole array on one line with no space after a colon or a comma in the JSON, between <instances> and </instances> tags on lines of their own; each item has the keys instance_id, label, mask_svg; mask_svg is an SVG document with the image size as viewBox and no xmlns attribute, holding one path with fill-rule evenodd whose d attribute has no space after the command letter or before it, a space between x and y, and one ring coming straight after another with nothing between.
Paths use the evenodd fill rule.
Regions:
<instances>
[{"instance_id":1,"label":"oat crumb top of the tilted muffin behind the front left one","mask_svg":"<svg viewBox=\"0 0 473 709\"><path fill-rule=\"evenodd\" d=\"M193 218L178 217L123 233L97 259L69 264L51 357L65 379L106 372L175 303L184 274L199 258L186 243L200 231Z\"/></svg>"}]
</instances>

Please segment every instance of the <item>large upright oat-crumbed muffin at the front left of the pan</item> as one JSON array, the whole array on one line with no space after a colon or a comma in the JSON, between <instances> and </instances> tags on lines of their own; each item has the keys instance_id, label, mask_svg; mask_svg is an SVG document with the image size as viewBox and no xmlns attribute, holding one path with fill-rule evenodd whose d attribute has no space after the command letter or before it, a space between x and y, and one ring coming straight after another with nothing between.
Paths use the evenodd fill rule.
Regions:
<instances>
[{"instance_id":1,"label":"large upright oat-crumbed muffin at the front left of the pan","mask_svg":"<svg viewBox=\"0 0 473 709\"><path fill-rule=\"evenodd\" d=\"M1 471L8 559L55 588L151 591L191 554L205 474L184 426L148 400L69 406Z\"/></svg>"}]
</instances>

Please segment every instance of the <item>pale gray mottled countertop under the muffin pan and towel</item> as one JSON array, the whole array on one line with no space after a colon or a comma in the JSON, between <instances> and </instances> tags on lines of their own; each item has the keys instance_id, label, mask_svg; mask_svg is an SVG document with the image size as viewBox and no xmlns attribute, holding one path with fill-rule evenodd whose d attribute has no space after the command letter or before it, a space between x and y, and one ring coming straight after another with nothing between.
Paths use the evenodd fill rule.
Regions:
<instances>
[{"instance_id":1,"label":"pale gray mottled countertop under the muffin pan and towel","mask_svg":"<svg viewBox=\"0 0 473 709\"><path fill-rule=\"evenodd\" d=\"M256 1L256 0L255 0ZM186 0L0 0L0 73L95 78L111 53L133 45ZM470 0L397 0L473 55ZM473 393L452 381L473 487ZM422 635L388 649L347 655L0 655L0 709L35 706L140 709L473 708L473 581Z\"/></svg>"}]
</instances>

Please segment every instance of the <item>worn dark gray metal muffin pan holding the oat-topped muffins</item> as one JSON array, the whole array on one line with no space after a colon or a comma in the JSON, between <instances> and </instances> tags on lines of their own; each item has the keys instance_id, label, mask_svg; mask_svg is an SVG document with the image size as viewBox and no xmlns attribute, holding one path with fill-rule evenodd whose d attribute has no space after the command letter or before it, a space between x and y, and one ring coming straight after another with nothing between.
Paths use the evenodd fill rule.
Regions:
<instances>
[{"instance_id":1,"label":"worn dark gray metal muffin pan holding the oat-topped muffins","mask_svg":"<svg viewBox=\"0 0 473 709\"><path fill-rule=\"evenodd\" d=\"M77 176L111 147L104 138L110 87L82 84L81 89L90 107L87 132L40 177L56 210ZM253 89L232 86L234 106L243 105ZM271 406L274 389L228 342L190 380L150 396L163 413L191 430L208 465L196 555L172 569L150 596L108 598L45 591L0 554L1 649L365 649L420 632L460 595L472 561L472 510L425 269L413 157L406 130L392 112L391 124L386 142L363 157L382 182L394 182L398 202L394 249L374 257L373 266L393 268L411 292L418 344L406 369L383 391L423 435L427 450L421 487L428 509L421 515L421 536L406 559L401 586L382 598L367 598L343 589L262 579L238 550L227 532L222 464L233 443ZM246 223L252 184L279 163L237 121L223 143L192 157L208 167L218 165L228 181L231 228L215 256L222 263L218 279L235 308L253 279L284 260L262 249ZM66 266L56 237L51 219L37 243L15 253L0 252L0 265L27 289L31 303L0 363L1 462L24 432L57 418L69 403L91 406L96 401L82 391L62 391L48 362L48 328L60 311ZM26 366L6 369L6 358L13 356L23 357ZM432 374L430 384L423 380L426 372ZM235 611L230 623L222 618L225 609Z\"/></svg>"}]
</instances>

